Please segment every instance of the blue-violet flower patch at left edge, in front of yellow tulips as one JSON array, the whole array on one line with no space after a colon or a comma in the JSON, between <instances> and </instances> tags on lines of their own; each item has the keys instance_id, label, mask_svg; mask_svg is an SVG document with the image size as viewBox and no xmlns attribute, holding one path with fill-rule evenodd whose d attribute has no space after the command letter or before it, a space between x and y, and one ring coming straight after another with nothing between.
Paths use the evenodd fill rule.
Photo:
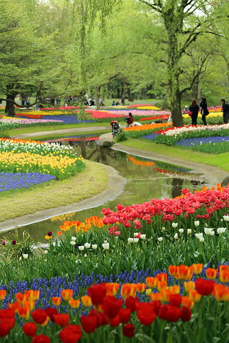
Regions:
<instances>
[{"instance_id":1,"label":"blue-violet flower patch at left edge, in front of yellow tulips","mask_svg":"<svg viewBox=\"0 0 229 343\"><path fill-rule=\"evenodd\" d=\"M40 173L0 173L0 192L29 188L52 179L56 177Z\"/></svg>"}]
</instances>

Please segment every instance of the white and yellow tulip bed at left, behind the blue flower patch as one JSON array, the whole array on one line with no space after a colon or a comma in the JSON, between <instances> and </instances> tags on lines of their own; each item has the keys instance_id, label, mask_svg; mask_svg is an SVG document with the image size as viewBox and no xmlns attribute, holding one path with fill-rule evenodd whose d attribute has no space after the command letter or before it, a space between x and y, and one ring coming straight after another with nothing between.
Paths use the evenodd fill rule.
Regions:
<instances>
[{"instance_id":1,"label":"white and yellow tulip bed at left, behind the blue flower patch","mask_svg":"<svg viewBox=\"0 0 229 343\"><path fill-rule=\"evenodd\" d=\"M0 139L0 171L3 173L41 173L66 179L83 168L83 159L77 158L70 146Z\"/></svg>"}]
</instances>

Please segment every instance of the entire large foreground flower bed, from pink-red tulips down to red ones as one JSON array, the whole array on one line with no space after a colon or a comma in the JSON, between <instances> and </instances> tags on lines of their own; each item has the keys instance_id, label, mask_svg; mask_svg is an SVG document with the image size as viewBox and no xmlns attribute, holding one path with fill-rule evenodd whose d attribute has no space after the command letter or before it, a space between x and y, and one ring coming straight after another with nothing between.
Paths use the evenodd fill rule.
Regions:
<instances>
[{"instance_id":1,"label":"entire large foreground flower bed, from pink-red tulips down to red ones","mask_svg":"<svg viewBox=\"0 0 229 343\"><path fill-rule=\"evenodd\" d=\"M4 240L3 342L226 342L228 208L218 184Z\"/></svg>"}]
</instances>

